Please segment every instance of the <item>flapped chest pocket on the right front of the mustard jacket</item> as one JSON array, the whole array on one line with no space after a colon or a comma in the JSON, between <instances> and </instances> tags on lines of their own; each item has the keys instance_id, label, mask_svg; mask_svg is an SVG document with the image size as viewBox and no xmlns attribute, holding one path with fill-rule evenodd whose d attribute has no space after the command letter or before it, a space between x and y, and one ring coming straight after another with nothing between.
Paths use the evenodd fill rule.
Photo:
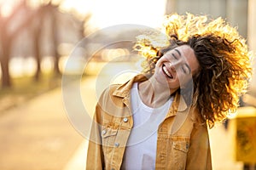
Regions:
<instances>
[{"instance_id":1,"label":"flapped chest pocket on the right front of the mustard jacket","mask_svg":"<svg viewBox=\"0 0 256 170\"><path fill-rule=\"evenodd\" d=\"M189 151L189 140L172 140L172 148L171 148L171 159L175 167L174 169L185 169L187 154Z\"/></svg>"}]
</instances>

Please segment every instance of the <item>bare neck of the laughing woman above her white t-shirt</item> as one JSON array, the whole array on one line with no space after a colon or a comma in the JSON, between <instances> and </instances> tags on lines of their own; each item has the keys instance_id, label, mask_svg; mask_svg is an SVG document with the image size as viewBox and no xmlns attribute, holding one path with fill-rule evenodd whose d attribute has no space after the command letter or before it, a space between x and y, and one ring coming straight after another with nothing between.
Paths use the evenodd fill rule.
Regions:
<instances>
[{"instance_id":1,"label":"bare neck of the laughing woman above her white t-shirt","mask_svg":"<svg viewBox=\"0 0 256 170\"><path fill-rule=\"evenodd\" d=\"M159 107L164 105L175 91L172 92L169 87L163 87L153 78L150 78L138 84L138 92L145 105Z\"/></svg>"}]
</instances>

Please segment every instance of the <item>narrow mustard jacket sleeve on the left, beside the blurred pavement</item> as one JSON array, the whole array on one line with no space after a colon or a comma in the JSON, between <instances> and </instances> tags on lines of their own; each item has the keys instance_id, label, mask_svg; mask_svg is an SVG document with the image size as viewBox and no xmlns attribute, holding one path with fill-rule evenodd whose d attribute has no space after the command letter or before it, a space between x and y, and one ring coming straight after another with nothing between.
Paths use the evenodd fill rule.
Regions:
<instances>
[{"instance_id":1,"label":"narrow mustard jacket sleeve on the left, beside the blurred pavement","mask_svg":"<svg viewBox=\"0 0 256 170\"><path fill-rule=\"evenodd\" d=\"M90 129L90 139L87 150L86 169L103 169L104 158L102 152L101 139L101 111L99 105L96 106L96 112Z\"/></svg>"}]
</instances>

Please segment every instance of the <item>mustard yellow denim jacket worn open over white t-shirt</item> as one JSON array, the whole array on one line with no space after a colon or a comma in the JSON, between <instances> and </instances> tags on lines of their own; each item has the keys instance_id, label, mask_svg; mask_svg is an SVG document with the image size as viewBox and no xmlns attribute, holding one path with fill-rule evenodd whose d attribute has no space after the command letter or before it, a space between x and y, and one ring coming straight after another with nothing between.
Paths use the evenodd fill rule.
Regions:
<instances>
[{"instance_id":1,"label":"mustard yellow denim jacket worn open over white t-shirt","mask_svg":"<svg viewBox=\"0 0 256 170\"><path fill-rule=\"evenodd\" d=\"M86 169L121 168L133 125L130 89L133 82L145 80L146 77L138 75L102 93L90 129ZM166 118L157 129L155 169L212 169L207 126L195 109L190 109L177 132L171 133L175 117L187 109L182 96L176 93Z\"/></svg>"}]
</instances>

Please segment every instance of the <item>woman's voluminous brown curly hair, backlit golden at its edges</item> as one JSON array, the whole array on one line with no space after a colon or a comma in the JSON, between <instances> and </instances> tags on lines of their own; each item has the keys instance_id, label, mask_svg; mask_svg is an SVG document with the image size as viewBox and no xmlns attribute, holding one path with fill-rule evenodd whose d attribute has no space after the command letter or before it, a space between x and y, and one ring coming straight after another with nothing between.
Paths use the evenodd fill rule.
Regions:
<instances>
[{"instance_id":1,"label":"woman's voluminous brown curly hair, backlit golden at its edges","mask_svg":"<svg viewBox=\"0 0 256 170\"><path fill-rule=\"evenodd\" d=\"M189 45L194 49L200 71L193 76L193 105L209 127L236 112L239 97L246 93L252 77L253 53L236 28L222 18L206 15L166 15L164 36L137 37L136 50L146 57L144 72L154 74L158 59L172 48Z\"/></svg>"}]
</instances>

